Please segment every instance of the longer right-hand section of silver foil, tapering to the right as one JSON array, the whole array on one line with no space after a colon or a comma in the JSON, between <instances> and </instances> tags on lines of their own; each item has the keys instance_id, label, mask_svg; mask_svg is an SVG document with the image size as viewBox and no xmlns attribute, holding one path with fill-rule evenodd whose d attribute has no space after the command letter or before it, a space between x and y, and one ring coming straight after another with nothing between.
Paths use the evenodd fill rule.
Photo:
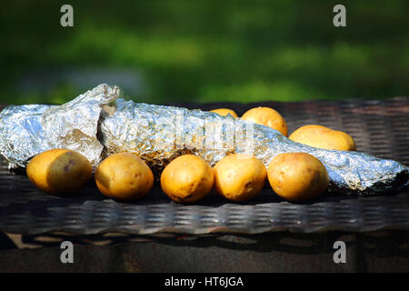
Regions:
<instances>
[{"instance_id":1,"label":"longer right-hand section of silver foil, tapering to the right","mask_svg":"<svg viewBox=\"0 0 409 291\"><path fill-rule=\"evenodd\" d=\"M270 127L232 116L122 99L116 105L115 113L101 125L106 153L133 152L158 171L185 152L204 157L211 166L231 153L254 154L268 166L277 155L304 152L323 162L334 192L386 192L404 184L409 176L408 168L393 160L304 146Z\"/></svg>"}]
</instances>

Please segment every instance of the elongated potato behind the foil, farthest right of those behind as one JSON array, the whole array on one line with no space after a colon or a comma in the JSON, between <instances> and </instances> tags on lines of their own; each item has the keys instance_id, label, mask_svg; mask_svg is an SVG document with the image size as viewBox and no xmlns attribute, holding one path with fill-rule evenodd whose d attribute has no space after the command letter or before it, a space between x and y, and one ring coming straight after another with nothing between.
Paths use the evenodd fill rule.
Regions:
<instances>
[{"instance_id":1,"label":"elongated potato behind the foil, farthest right of those behind","mask_svg":"<svg viewBox=\"0 0 409 291\"><path fill-rule=\"evenodd\" d=\"M354 138L342 131L336 131L322 125L305 125L288 137L292 141L307 146L339 151L355 151Z\"/></svg>"}]
</instances>

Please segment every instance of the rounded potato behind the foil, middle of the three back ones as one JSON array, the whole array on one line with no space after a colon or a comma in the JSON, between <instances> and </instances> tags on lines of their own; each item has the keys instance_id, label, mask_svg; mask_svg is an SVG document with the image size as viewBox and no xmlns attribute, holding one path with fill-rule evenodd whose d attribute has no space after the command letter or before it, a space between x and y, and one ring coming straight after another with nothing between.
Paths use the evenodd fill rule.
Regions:
<instances>
[{"instance_id":1,"label":"rounded potato behind the foil, middle of the three back ones","mask_svg":"<svg viewBox=\"0 0 409 291\"><path fill-rule=\"evenodd\" d=\"M254 122L254 124L269 126L287 136L287 124L285 123L284 117L273 108L252 108L244 113L242 119Z\"/></svg>"}]
</instances>

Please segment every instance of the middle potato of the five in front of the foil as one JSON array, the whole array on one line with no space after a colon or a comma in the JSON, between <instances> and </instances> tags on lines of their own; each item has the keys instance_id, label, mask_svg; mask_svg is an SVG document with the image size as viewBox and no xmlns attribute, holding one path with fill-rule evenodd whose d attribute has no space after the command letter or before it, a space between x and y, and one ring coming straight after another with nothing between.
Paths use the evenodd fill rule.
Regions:
<instances>
[{"instance_id":1,"label":"middle potato of the five in front of the foil","mask_svg":"<svg viewBox=\"0 0 409 291\"><path fill-rule=\"evenodd\" d=\"M195 155L176 157L161 175L162 190L178 203L204 198L213 188L214 174L205 160Z\"/></svg>"}]
</instances>

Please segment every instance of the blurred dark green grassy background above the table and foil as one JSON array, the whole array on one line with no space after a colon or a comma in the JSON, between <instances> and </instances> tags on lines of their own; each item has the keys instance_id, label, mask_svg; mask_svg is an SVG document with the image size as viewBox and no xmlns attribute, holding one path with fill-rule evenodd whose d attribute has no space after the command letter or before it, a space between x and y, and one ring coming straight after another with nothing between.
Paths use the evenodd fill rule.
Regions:
<instances>
[{"instance_id":1,"label":"blurred dark green grassy background above the table and foil","mask_svg":"<svg viewBox=\"0 0 409 291\"><path fill-rule=\"evenodd\" d=\"M404 0L7 1L0 32L2 103L63 103L100 83L156 104L409 93Z\"/></svg>"}]
</instances>

